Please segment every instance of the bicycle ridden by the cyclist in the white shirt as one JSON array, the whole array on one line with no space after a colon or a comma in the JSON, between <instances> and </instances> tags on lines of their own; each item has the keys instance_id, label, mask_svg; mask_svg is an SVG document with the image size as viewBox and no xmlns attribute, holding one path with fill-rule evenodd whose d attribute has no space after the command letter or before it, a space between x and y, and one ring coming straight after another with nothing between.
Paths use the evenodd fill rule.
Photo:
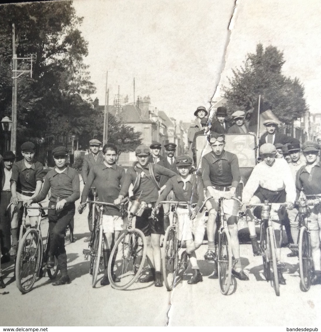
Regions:
<instances>
[{"instance_id":1,"label":"bicycle ridden by the cyclist in the white shirt","mask_svg":"<svg viewBox=\"0 0 321 332\"><path fill-rule=\"evenodd\" d=\"M287 206L287 203L269 203L269 201L264 201L264 203L249 204L247 207L262 207L260 245L263 253L262 257L264 276L266 281L271 281L276 295L280 296L278 268L283 268L284 263L281 263L280 259L277 257L277 242L270 217L272 204L278 204L280 207ZM271 275L273 275L273 278Z\"/></svg>"}]
</instances>

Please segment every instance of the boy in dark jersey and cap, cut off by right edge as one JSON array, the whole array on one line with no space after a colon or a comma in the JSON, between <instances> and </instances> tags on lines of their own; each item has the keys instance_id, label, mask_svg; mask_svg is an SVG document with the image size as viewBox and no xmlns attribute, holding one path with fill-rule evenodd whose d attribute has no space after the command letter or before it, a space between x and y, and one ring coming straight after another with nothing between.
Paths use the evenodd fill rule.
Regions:
<instances>
[{"instance_id":1,"label":"boy in dark jersey and cap, cut off by right edge","mask_svg":"<svg viewBox=\"0 0 321 332\"><path fill-rule=\"evenodd\" d=\"M320 152L319 144L315 142L304 142L302 151L306 158L306 165L303 165L296 174L296 190L299 198L300 192L303 191L308 199L319 199L311 208L308 228L310 231L311 252L314 265L314 271L311 278L311 285L321 284L321 251L320 236L321 229L321 164L318 162ZM314 197L311 195L315 195Z\"/></svg>"}]
</instances>

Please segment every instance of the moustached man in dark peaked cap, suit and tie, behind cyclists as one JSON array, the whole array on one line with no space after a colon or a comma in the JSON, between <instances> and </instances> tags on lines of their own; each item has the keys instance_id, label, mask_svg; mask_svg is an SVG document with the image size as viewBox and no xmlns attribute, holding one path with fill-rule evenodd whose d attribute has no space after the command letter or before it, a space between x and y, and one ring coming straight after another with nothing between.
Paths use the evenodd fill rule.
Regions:
<instances>
[{"instance_id":1,"label":"moustached man in dark peaked cap, suit and tie, behind cyclists","mask_svg":"<svg viewBox=\"0 0 321 332\"><path fill-rule=\"evenodd\" d=\"M167 143L164 145L167 157L158 162L158 165L161 165L175 172L176 174L179 174L176 167L176 158L174 156L176 151L176 146L177 145L175 143ZM169 177L162 175L160 177L159 186L162 188L166 184L168 179ZM167 196L167 201L172 201L172 200L173 200L173 192L171 191L171 193ZM166 229L170 225L169 221L170 204L163 204L163 208L164 208L164 229Z\"/></svg>"}]
</instances>

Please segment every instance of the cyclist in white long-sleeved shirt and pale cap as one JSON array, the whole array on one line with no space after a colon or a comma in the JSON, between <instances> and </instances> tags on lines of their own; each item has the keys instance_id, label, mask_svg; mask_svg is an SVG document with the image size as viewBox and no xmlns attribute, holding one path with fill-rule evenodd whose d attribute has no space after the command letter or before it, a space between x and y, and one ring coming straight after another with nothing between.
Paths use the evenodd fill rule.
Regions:
<instances>
[{"instance_id":1,"label":"cyclist in white long-sleeved shirt and pale cap","mask_svg":"<svg viewBox=\"0 0 321 332\"><path fill-rule=\"evenodd\" d=\"M248 227L254 255L260 255L262 252L256 240L254 209L248 209L247 205L264 203L265 200L268 200L269 203L287 202L287 208L291 210L295 200L295 186L291 170L283 158L275 158L276 147L272 143L262 144L260 155L263 161L254 167L242 193L242 211L247 211L250 217ZM280 205L275 204L271 207L270 216L276 238L278 257L281 255L281 221L284 214L285 210L282 213ZM278 277L279 283L285 285L285 279L280 268L278 269Z\"/></svg>"}]
</instances>

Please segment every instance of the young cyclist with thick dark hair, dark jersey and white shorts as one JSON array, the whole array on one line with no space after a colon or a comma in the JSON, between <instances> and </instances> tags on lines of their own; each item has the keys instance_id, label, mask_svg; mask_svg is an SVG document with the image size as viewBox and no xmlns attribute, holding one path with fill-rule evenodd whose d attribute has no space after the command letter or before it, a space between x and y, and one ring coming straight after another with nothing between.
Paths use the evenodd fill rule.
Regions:
<instances>
[{"instance_id":1,"label":"young cyclist with thick dark hair, dark jersey and white shorts","mask_svg":"<svg viewBox=\"0 0 321 332\"><path fill-rule=\"evenodd\" d=\"M114 203L120 193L120 188L124 183L125 170L116 164L118 149L116 145L108 143L103 147L104 161L94 165L90 171L81 196L81 203L78 210L81 210L85 204L90 188L93 183L98 193L99 200L105 203ZM94 213L94 212L93 212ZM113 207L106 206L103 212L103 234L106 246L107 264L105 266L105 276L101 280L102 286L109 285L110 281L107 275L107 265L113 249L112 244L119 237L120 231L123 229L123 220L121 212ZM114 242L113 242L114 240ZM114 271L115 261L112 261L112 273ZM115 282L119 281L113 275Z\"/></svg>"}]
</instances>

